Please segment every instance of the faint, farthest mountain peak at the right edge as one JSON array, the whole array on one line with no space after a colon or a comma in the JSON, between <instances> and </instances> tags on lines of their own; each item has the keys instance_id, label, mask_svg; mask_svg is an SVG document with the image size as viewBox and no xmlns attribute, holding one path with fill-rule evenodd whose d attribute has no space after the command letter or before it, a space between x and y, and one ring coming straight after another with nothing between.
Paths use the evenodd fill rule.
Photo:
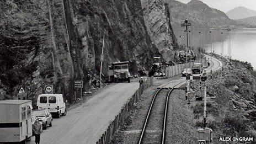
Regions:
<instances>
[{"instance_id":1,"label":"faint, farthest mountain peak at the right edge","mask_svg":"<svg viewBox=\"0 0 256 144\"><path fill-rule=\"evenodd\" d=\"M230 19L243 19L256 16L256 10L245 7L236 7L228 11L226 14Z\"/></svg>"}]
</instances>

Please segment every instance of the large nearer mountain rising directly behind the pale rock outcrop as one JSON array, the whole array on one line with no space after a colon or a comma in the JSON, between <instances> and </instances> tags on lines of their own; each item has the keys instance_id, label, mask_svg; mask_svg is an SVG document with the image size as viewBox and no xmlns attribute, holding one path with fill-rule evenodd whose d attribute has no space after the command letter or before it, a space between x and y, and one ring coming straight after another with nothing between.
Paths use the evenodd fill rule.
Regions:
<instances>
[{"instance_id":1,"label":"large nearer mountain rising directly behind the pale rock outcrop","mask_svg":"<svg viewBox=\"0 0 256 144\"><path fill-rule=\"evenodd\" d=\"M226 27L234 24L227 15L218 9L211 8L207 4L192 0L187 4L166 0L170 11L170 20L173 27L180 27L185 19L191 21L196 28Z\"/></svg>"}]
</instances>

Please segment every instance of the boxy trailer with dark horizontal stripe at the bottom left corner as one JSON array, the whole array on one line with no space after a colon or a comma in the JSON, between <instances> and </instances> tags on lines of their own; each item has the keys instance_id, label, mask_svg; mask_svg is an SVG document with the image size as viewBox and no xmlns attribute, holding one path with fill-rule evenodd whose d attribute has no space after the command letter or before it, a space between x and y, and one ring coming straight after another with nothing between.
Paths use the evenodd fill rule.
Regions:
<instances>
[{"instance_id":1,"label":"boxy trailer with dark horizontal stripe at the bottom left corner","mask_svg":"<svg viewBox=\"0 0 256 144\"><path fill-rule=\"evenodd\" d=\"M32 136L31 100L0 101L0 143L25 143Z\"/></svg>"}]
</instances>

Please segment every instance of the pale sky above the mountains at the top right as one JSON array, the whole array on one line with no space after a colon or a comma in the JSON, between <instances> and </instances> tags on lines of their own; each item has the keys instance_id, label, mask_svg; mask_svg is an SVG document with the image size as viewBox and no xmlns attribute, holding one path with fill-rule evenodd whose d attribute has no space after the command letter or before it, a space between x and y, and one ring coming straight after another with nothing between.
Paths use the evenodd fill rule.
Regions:
<instances>
[{"instance_id":1,"label":"pale sky above the mountains at the top right","mask_svg":"<svg viewBox=\"0 0 256 144\"><path fill-rule=\"evenodd\" d=\"M176 0L182 3L188 3L190 0ZM212 8L228 12L233 8L242 6L249 9L256 10L256 0L200 0Z\"/></svg>"}]
</instances>

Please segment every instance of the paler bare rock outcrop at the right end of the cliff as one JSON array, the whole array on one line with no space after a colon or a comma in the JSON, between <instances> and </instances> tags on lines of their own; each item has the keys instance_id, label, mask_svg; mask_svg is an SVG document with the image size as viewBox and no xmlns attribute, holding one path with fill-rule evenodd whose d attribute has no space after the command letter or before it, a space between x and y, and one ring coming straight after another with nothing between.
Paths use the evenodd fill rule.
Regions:
<instances>
[{"instance_id":1,"label":"paler bare rock outcrop at the right end of the cliff","mask_svg":"<svg viewBox=\"0 0 256 144\"><path fill-rule=\"evenodd\" d=\"M169 19L168 5L162 1L141 0L145 24L151 40L167 62L174 57L177 39L173 33Z\"/></svg>"}]
</instances>

